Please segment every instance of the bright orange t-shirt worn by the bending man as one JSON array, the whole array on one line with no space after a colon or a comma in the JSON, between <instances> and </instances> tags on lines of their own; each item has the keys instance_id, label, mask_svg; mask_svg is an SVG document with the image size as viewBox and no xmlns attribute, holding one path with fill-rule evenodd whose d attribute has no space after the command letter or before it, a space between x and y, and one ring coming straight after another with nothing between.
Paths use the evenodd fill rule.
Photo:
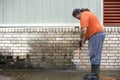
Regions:
<instances>
[{"instance_id":1,"label":"bright orange t-shirt worn by the bending man","mask_svg":"<svg viewBox=\"0 0 120 80\"><path fill-rule=\"evenodd\" d=\"M80 16L81 28L87 27L86 39L88 40L97 32L103 32L103 26L101 26L98 18L92 12L85 11Z\"/></svg>"}]
</instances>

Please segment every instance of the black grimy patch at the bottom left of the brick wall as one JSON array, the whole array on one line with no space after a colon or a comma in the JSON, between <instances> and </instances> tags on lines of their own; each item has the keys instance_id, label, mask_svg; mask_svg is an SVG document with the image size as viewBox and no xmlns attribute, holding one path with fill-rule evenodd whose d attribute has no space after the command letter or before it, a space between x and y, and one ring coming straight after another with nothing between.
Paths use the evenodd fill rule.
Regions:
<instances>
[{"instance_id":1,"label":"black grimy patch at the bottom left of the brick wall","mask_svg":"<svg viewBox=\"0 0 120 80\"><path fill-rule=\"evenodd\" d=\"M6 53L5 53L6 54ZM20 58L17 56L14 58L14 55L1 55L0 54L0 68L2 69L25 69L31 68L29 55L26 58Z\"/></svg>"}]
</instances>

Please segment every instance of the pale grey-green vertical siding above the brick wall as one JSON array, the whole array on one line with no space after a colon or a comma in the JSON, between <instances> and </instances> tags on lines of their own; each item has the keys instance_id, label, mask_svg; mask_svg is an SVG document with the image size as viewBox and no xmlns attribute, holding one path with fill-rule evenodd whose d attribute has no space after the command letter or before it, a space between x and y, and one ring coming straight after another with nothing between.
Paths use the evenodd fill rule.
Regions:
<instances>
[{"instance_id":1,"label":"pale grey-green vertical siding above the brick wall","mask_svg":"<svg viewBox=\"0 0 120 80\"><path fill-rule=\"evenodd\" d=\"M82 7L101 19L101 0L0 0L0 23L77 23L72 11Z\"/></svg>"}]
</instances>

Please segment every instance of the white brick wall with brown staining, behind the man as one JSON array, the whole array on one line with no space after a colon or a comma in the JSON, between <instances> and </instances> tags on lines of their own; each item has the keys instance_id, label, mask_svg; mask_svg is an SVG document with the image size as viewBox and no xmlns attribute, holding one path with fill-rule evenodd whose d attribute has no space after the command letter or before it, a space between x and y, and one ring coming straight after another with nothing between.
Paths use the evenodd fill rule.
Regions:
<instances>
[{"instance_id":1,"label":"white brick wall with brown staining, behind the man","mask_svg":"<svg viewBox=\"0 0 120 80\"><path fill-rule=\"evenodd\" d=\"M106 27L101 69L120 69L120 27ZM34 68L82 68L77 48L78 28L0 28L0 54L26 58ZM88 44L88 42L87 42ZM90 66L88 45L81 50ZM47 67L46 67L47 66Z\"/></svg>"}]
</instances>

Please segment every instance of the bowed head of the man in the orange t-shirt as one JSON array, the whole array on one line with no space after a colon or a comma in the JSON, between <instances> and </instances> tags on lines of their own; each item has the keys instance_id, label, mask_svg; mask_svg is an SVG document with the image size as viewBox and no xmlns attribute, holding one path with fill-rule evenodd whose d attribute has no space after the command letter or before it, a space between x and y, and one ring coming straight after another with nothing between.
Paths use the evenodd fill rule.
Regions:
<instances>
[{"instance_id":1,"label":"bowed head of the man in the orange t-shirt","mask_svg":"<svg viewBox=\"0 0 120 80\"><path fill-rule=\"evenodd\" d=\"M82 9L74 9L73 12L72 12L72 16L79 19L80 20L80 15L82 12L84 11L90 11L89 9L87 8L82 8Z\"/></svg>"}]
</instances>

